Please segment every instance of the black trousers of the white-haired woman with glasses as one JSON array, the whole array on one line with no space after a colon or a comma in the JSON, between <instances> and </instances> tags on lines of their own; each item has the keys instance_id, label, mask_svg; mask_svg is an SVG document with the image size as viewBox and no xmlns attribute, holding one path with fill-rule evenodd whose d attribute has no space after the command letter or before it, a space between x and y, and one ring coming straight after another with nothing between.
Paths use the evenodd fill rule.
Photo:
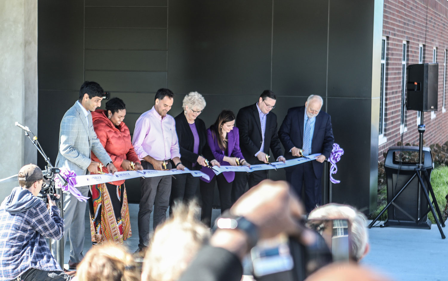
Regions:
<instances>
[{"instance_id":1,"label":"black trousers of the white-haired woman with glasses","mask_svg":"<svg viewBox=\"0 0 448 281\"><path fill-rule=\"evenodd\" d=\"M188 203L196 195L199 186L199 177L193 177L190 173L176 175L176 179L171 180L171 198L169 200L169 213L176 201Z\"/></svg>"}]
</instances>

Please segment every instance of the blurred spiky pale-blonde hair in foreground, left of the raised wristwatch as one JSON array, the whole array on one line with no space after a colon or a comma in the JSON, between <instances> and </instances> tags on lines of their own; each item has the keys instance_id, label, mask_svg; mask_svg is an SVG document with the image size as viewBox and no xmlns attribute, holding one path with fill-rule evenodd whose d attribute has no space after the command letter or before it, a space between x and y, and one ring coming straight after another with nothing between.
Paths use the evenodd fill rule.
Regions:
<instances>
[{"instance_id":1,"label":"blurred spiky pale-blonde hair in foreground, left of the raised wristwatch","mask_svg":"<svg viewBox=\"0 0 448 281\"><path fill-rule=\"evenodd\" d=\"M172 218L155 229L143 260L142 281L175 281L199 248L208 242L210 229L195 218L197 203L176 203Z\"/></svg>"}]
</instances>

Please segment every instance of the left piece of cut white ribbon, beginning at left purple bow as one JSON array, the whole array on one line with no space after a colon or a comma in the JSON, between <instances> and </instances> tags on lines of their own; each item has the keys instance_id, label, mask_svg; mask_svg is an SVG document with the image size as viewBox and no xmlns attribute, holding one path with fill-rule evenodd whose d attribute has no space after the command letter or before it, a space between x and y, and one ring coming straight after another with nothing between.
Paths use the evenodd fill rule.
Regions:
<instances>
[{"instance_id":1,"label":"left piece of cut white ribbon, beginning at left purple bow","mask_svg":"<svg viewBox=\"0 0 448 281\"><path fill-rule=\"evenodd\" d=\"M157 171L157 170L138 170L138 171L123 171L123 172L116 172L113 175L112 174L91 174L91 175L83 175L83 176L76 176L76 185L74 187L79 186L91 186L95 184L100 184L104 182L116 182L121 180L128 180L131 178L136 177L161 177L161 176L171 176L171 175L178 175L178 174L184 174L184 173L191 173L193 177L203 177L207 181L210 180L210 177L202 173L201 171L193 171L185 168L184 171L182 170L168 170L168 171Z\"/></svg>"}]
</instances>

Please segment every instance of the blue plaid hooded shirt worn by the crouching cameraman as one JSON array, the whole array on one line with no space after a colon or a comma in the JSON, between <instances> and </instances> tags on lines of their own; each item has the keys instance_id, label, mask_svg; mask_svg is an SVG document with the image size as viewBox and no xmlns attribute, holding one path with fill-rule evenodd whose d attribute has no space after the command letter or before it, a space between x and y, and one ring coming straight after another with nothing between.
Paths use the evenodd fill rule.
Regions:
<instances>
[{"instance_id":1,"label":"blue plaid hooded shirt worn by the crouching cameraman","mask_svg":"<svg viewBox=\"0 0 448 281\"><path fill-rule=\"evenodd\" d=\"M9 281L30 268L61 271L45 238L58 240L64 234L59 208L47 210L43 200L24 212L10 214L0 207L0 281Z\"/></svg>"}]
</instances>

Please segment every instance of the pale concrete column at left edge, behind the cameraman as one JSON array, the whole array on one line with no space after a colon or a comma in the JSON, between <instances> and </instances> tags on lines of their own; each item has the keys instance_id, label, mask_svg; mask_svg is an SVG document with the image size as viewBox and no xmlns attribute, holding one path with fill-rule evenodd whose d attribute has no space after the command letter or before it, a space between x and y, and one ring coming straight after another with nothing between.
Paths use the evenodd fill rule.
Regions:
<instances>
[{"instance_id":1,"label":"pale concrete column at left edge, behind the cameraman","mask_svg":"<svg viewBox=\"0 0 448 281\"><path fill-rule=\"evenodd\" d=\"M0 1L0 179L37 164L18 121L37 134L37 0ZM43 167L41 167L43 168ZM0 200L17 182L0 183Z\"/></svg>"}]
</instances>

